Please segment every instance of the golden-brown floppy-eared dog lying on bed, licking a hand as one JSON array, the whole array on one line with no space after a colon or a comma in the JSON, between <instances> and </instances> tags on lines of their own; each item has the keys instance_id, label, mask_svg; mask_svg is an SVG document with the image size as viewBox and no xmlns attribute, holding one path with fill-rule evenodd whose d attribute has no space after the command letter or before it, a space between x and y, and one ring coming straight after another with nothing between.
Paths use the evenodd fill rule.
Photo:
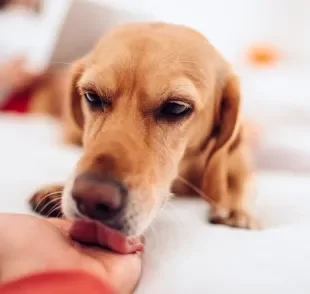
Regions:
<instances>
[{"instance_id":1,"label":"golden-brown floppy-eared dog lying on bed, licking a hand","mask_svg":"<svg viewBox=\"0 0 310 294\"><path fill-rule=\"evenodd\" d=\"M63 190L66 217L139 235L171 192L198 193L211 204L210 222L256 228L238 79L200 33L119 27L73 66L67 98L66 139L84 153L64 190L32 198L37 211Z\"/></svg>"}]
</instances>

